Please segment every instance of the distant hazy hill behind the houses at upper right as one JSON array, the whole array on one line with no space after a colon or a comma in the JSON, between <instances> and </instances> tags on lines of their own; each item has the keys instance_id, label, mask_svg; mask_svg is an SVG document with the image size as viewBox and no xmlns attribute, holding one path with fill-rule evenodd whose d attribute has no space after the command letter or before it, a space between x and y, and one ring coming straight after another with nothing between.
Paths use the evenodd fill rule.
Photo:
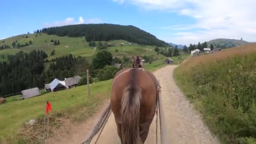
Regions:
<instances>
[{"instance_id":1,"label":"distant hazy hill behind the houses at upper right","mask_svg":"<svg viewBox=\"0 0 256 144\"><path fill-rule=\"evenodd\" d=\"M231 48L235 46L245 45L249 44L249 42L245 40L235 40L235 39L225 39L225 38L219 38L215 40L210 40L207 42L208 47L210 48L210 45L213 44L213 46L219 46L220 48Z\"/></svg>"}]
</instances>

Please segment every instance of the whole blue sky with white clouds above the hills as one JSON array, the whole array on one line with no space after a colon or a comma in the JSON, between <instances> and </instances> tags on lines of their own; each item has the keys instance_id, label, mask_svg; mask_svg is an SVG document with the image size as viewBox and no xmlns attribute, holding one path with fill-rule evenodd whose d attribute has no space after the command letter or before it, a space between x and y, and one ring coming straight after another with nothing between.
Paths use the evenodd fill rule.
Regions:
<instances>
[{"instance_id":1,"label":"whole blue sky with white clouds above the hills","mask_svg":"<svg viewBox=\"0 0 256 144\"><path fill-rule=\"evenodd\" d=\"M0 39L44 27L121 24L175 44L256 42L256 0L1 0Z\"/></svg>"}]
</instances>

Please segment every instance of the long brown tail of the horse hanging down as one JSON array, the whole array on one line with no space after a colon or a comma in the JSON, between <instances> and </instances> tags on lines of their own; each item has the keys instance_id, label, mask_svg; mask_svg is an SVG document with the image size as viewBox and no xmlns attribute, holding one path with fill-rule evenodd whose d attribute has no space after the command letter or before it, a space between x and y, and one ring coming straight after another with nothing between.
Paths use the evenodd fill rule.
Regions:
<instances>
[{"instance_id":1,"label":"long brown tail of the horse hanging down","mask_svg":"<svg viewBox=\"0 0 256 144\"><path fill-rule=\"evenodd\" d=\"M142 144L139 135L140 100L139 88L131 85L125 88L121 108L122 144Z\"/></svg>"}]
</instances>

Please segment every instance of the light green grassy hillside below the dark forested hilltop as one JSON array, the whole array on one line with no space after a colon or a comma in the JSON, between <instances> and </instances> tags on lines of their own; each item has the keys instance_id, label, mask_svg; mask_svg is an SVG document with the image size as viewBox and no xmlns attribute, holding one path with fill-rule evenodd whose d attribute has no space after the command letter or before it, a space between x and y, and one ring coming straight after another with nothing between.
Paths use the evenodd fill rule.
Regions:
<instances>
[{"instance_id":1,"label":"light green grassy hillside below the dark forested hilltop","mask_svg":"<svg viewBox=\"0 0 256 144\"><path fill-rule=\"evenodd\" d=\"M26 38L27 36L27 38ZM6 38L4 40L0 40L0 46L8 45L12 46L13 42L19 43L20 45L25 45L25 43L29 43L31 40L32 44L29 44L24 47L20 48L7 48L0 50L0 61L6 61L7 55L11 54L14 55L19 51L24 51L29 53L32 50L43 50L45 53L48 54L48 60L55 59L57 57L66 56L69 53L73 56L83 56L86 57L89 61L96 55L98 48L91 47L89 43L85 40L84 37L60 37L57 35L47 35L44 33L37 33L37 34L24 34L24 35L17 35L13 37ZM59 40L59 45L54 45L51 40ZM96 42L97 44L98 42ZM129 45L128 41L125 40L111 40L108 42L101 41L101 43L109 43L112 46L107 48L107 51L110 51L113 56L131 56L135 54L142 55L150 51L150 49L154 49L154 46L149 45L139 45L132 43ZM123 45L121 46L121 43ZM55 50L55 55L51 56L51 52ZM118 50L118 51L116 51ZM165 58L163 55L152 51L146 54L147 56L152 55L156 59L163 59Z\"/></svg>"}]
</instances>

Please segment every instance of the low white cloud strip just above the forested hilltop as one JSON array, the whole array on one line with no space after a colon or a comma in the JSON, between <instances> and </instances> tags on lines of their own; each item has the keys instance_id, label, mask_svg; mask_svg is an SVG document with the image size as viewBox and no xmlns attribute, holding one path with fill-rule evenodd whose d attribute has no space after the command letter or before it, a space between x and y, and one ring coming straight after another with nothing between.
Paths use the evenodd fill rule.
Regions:
<instances>
[{"instance_id":1,"label":"low white cloud strip just above the forested hilltop","mask_svg":"<svg viewBox=\"0 0 256 144\"><path fill-rule=\"evenodd\" d=\"M54 21L53 23L45 23L43 27L58 27L58 26L64 26L64 25L71 25L71 24L96 24L101 23L101 19L94 18L94 19L87 19L84 20L82 16L79 17L78 21L75 21L74 18L67 18L64 21Z\"/></svg>"}]
</instances>

